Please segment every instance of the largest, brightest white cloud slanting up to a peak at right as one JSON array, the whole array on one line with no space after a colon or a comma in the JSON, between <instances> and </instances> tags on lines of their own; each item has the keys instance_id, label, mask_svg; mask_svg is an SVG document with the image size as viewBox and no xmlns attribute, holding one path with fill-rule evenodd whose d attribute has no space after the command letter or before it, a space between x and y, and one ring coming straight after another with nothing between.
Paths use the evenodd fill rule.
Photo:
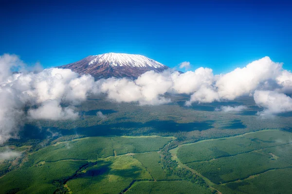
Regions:
<instances>
[{"instance_id":1,"label":"largest, brightest white cloud slanting up to a peak at right","mask_svg":"<svg viewBox=\"0 0 292 194\"><path fill-rule=\"evenodd\" d=\"M204 82L204 85L206 83L209 85L195 92L186 104L252 96L256 89L283 91L285 88L285 90L291 88L291 78L291 73L283 70L281 63L274 63L269 57L264 57L243 68L236 68L229 73L214 76L213 84Z\"/></svg>"}]
</instances>

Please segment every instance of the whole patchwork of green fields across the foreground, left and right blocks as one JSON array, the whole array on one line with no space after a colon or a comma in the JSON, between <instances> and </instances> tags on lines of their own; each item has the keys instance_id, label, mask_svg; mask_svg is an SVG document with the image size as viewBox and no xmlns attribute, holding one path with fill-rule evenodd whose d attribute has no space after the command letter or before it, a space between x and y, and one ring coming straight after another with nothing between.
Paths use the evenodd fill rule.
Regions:
<instances>
[{"instance_id":1,"label":"whole patchwork of green fields across the foreground, left and right blocks","mask_svg":"<svg viewBox=\"0 0 292 194\"><path fill-rule=\"evenodd\" d=\"M287 131L262 130L191 144L156 135L68 140L37 151L31 146L1 147L22 155L15 169L3 171L0 194L292 192L292 135ZM4 160L0 167L7 170L16 161Z\"/></svg>"}]
</instances>

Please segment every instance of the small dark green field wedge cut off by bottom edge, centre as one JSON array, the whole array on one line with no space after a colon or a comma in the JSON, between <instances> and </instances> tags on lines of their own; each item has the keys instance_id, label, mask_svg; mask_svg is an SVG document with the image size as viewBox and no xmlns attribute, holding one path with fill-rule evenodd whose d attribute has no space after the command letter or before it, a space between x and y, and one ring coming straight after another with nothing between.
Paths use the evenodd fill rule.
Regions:
<instances>
[{"instance_id":1,"label":"small dark green field wedge cut off by bottom edge, centre","mask_svg":"<svg viewBox=\"0 0 292 194\"><path fill-rule=\"evenodd\" d=\"M211 194L211 190L191 182L182 181L139 181L135 182L127 194Z\"/></svg>"}]
</instances>

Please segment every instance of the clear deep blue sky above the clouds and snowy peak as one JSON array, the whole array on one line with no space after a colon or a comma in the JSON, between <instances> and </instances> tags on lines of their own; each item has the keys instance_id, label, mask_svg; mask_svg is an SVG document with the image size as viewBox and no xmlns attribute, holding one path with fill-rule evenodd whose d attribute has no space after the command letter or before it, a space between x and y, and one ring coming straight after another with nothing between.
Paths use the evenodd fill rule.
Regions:
<instances>
[{"instance_id":1,"label":"clear deep blue sky above the clouds and snowy peak","mask_svg":"<svg viewBox=\"0 0 292 194\"><path fill-rule=\"evenodd\" d=\"M51 67L122 52L215 73L270 56L292 69L291 10L288 0L1 0L0 54Z\"/></svg>"}]
</instances>

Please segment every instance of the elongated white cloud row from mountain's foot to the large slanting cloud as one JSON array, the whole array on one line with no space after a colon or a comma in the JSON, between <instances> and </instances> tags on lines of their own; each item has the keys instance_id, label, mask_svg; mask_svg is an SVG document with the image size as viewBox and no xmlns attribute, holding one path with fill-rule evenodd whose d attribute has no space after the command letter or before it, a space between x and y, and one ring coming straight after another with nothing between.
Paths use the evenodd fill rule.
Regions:
<instances>
[{"instance_id":1,"label":"elongated white cloud row from mountain's foot to the large slanting cloud","mask_svg":"<svg viewBox=\"0 0 292 194\"><path fill-rule=\"evenodd\" d=\"M157 105L170 102L164 94L190 94L202 85L213 83L212 69L200 67L195 71L179 73L166 70L162 73L148 71L132 81L126 78L110 78L95 82L93 93L106 93L116 102L139 102L140 105Z\"/></svg>"}]
</instances>

